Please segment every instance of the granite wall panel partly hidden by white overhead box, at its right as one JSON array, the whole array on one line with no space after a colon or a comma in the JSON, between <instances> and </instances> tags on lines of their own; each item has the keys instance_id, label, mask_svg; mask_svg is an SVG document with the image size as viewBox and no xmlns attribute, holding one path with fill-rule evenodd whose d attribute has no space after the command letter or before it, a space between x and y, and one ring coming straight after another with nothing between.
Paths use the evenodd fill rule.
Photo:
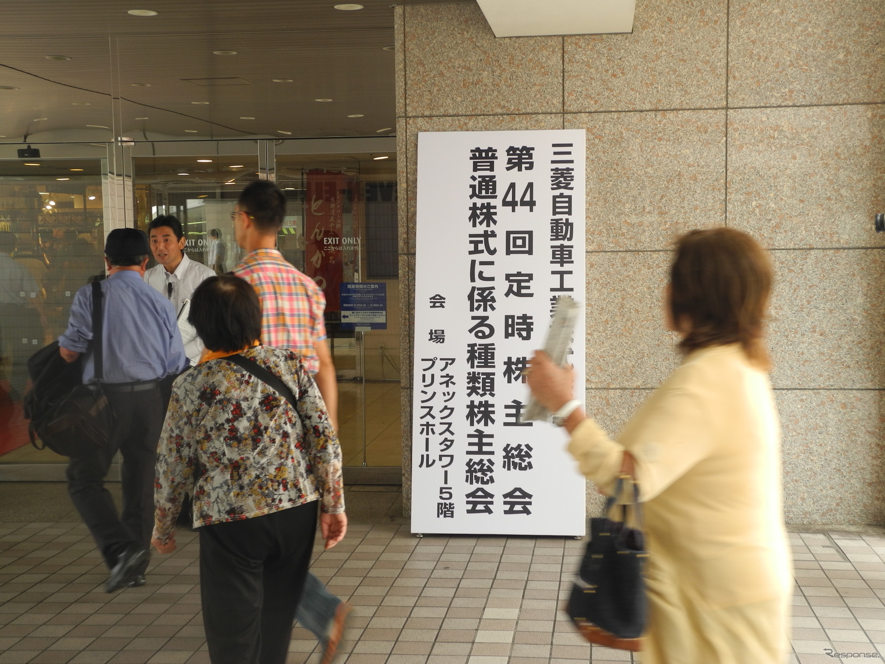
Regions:
<instances>
[{"instance_id":1,"label":"granite wall panel partly hidden by white overhead box, at its right","mask_svg":"<svg viewBox=\"0 0 885 664\"><path fill-rule=\"evenodd\" d=\"M566 112L720 108L726 0L637 0L633 33L565 38Z\"/></svg>"}]
</instances>

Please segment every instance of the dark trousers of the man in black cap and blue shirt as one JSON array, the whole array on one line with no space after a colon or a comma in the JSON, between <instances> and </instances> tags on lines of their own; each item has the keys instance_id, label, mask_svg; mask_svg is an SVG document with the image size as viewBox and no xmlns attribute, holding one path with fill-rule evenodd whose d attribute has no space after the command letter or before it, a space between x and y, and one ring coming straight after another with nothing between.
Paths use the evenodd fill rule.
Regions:
<instances>
[{"instance_id":1,"label":"dark trousers of the man in black cap and blue shirt","mask_svg":"<svg viewBox=\"0 0 885 664\"><path fill-rule=\"evenodd\" d=\"M154 477L157 444L163 424L160 390L105 393L117 420L110 443L89 456L72 458L67 466L67 490L81 519L89 527L108 567L130 544L150 550L154 527ZM114 455L122 461L120 513L104 488Z\"/></svg>"}]
</instances>

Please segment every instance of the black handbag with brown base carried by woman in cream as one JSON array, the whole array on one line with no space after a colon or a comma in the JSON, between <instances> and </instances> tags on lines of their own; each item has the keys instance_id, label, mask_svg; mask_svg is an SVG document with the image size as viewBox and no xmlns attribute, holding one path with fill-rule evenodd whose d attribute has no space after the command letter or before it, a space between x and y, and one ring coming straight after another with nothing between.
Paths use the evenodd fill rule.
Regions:
<instances>
[{"instance_id":1,"label":"black handbag with brown base carried by woman in cream","mask_svg":"<svg viewBox=\"0 0 885 664\"><path fill-rule=\"evenodd\" d=\"M633 488L633 505L621 506L621 521L609 518L622 495L625 481ZM590 643L637 652L642 650L646 600L643 567L643 531L627 527L628 508L642 527L639 490L629 475L621 473L605 513L590 519L590 541L572 586L566 613Z\"/></svg>"}]
</instances>

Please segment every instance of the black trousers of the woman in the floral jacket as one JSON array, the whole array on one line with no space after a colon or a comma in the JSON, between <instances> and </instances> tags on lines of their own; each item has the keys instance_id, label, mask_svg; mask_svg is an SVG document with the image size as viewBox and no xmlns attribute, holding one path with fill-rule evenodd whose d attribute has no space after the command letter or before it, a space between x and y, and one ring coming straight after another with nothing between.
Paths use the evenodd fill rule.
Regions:
<instances>
[{"instance_id":1,"label":"black trousers of the woman in the floral jacket","mask_svg":"<svg viewBox=\"0 0 885 664\"><path fill-rule=\"evenodd\" d=\"M316 527L312 502L198 529L212 664L285 664Z\"/></svg>"}]
</instances>

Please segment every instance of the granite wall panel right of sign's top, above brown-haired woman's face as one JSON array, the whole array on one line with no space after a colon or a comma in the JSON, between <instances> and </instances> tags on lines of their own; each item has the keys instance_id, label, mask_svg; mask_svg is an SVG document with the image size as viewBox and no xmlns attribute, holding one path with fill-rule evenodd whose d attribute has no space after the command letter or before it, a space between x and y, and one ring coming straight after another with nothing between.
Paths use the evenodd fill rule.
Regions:
<instances>
[{"instance_id":1,"label":"granite wall panel right of sign's top, above brown-haired woman's face","mask_svg":"<svg viewBox=\"0 0 885 664\"><path fill-rule=\"evenodd\" d=\"M668 249L725 222L725 111L581 113L587 130L587 249Z\"/></svg>"}]
</instances>

